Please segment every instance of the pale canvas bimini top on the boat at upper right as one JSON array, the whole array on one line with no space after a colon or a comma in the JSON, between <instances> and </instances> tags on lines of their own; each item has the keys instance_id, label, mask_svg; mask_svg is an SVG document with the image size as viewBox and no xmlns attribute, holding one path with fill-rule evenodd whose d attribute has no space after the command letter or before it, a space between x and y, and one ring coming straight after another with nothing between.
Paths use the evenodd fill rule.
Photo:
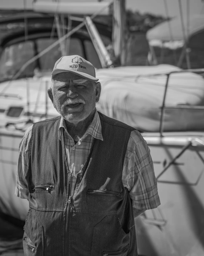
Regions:
<instances>
[{"instance_id":1,"label":"pale canvas bimini top on the boat at upper right","mask_svg":"<svg viewBox=\"0 0 204 256\"><path fill-rule=\"evenodd\" d=\"M189 32L187 32L187 23L184 19L185 35L187 39L204 30L204 15L192 15L189 18ZM171 29L171 32L169 31ZM172 33L172 35L171 35ZM147 32L149 44L157 47L166 47L176 49L183 47L183 31L180 17L165 21Z\"/></svg>"}]
</instances>

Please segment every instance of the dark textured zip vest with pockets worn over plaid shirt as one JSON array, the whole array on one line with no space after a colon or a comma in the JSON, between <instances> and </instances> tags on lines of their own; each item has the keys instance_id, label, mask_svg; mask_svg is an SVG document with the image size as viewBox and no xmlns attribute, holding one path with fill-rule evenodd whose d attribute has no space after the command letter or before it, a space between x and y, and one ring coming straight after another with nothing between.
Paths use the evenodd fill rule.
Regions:
<instances>
[{"instance_id":1,"label":"dark textured zip vest with pockets worn over plaid shirt","mask_svg":"<svg viewBox=\"0 0 204 256\"><path fill-rule=\"evenodd\" d=\"M63 134L58 139L61 117L34 124L25 256L137 256L132 202L122 183L134 129L99 115L103 141L94 139L71 198Z\"/></svg>"}]
</instances>

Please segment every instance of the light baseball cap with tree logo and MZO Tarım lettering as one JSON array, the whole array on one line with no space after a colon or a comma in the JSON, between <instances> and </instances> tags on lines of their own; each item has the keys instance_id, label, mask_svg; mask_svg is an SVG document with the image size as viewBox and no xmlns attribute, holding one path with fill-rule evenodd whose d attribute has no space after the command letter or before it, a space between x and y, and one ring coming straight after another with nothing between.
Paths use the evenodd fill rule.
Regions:
<instances>
[{"instance_id":1,"label":"light baseball cap with tree logo and MZO Tar\u0131m lettering","mask_svg":"<svg viewBox=\"0 0 204 256\"><path fill-rule=\"evenodd\" d=\"M81 77L97 82L93 65L79 55L62 56L56 61L52 76L62 72L71 72Z\"/></svg>"}]
</instances>

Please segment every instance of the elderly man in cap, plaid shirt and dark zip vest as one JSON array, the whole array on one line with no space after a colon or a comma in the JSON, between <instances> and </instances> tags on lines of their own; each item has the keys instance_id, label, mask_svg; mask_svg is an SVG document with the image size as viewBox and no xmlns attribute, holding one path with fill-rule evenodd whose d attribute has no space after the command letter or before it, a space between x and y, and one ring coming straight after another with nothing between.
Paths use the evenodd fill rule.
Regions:
<instances>
[{"instance_id":1,"label":"elderly man in cap, plaid shirt and dark zip vest","mask_svg":"<svg viewBox=\"0 0 204 256\"><path fill-rule=\"evenodd\" d=\"M100 93L90 62L56 62L48 94L60 116L35 123L20 144L26 256L137 255L134 217L160 204L152 159L137 130L96 111Z\"/></svg>"}]
</instances>

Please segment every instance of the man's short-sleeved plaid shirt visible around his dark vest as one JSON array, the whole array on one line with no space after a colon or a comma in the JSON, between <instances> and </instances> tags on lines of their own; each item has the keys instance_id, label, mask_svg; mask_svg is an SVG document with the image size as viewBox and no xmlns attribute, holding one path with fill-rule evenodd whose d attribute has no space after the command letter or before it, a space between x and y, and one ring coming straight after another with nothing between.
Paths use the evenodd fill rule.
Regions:
<instances>
[{"instance_id":1,"label":"man's short-sleeved plaid shirt visible around his dark vest","mask_svg":"<svg viewBox=\"0 0 204 256\"><path fill-rule=\"evenodd\" d=\"M76 182L76 175L80 172L86 162L93 139L103 140L100 117L96 111L93 121L86 133L76 144L68 134L63 118L61 118L59 126L59 138L61 138L62 130L65 131L64 139L68 166L72 177L72 194ZM16 173L15 194L17 197L26 199L28 199L29 191L25 177L29 166L31 132L32 126L26 130L25 135L21 140ZM136 130L131 132L128 141L124 158L122 182L123 186L129 191L134 208L147 210L156 208L160 205L150 151L146 141Z\"/></svg>"}]
</instances>

